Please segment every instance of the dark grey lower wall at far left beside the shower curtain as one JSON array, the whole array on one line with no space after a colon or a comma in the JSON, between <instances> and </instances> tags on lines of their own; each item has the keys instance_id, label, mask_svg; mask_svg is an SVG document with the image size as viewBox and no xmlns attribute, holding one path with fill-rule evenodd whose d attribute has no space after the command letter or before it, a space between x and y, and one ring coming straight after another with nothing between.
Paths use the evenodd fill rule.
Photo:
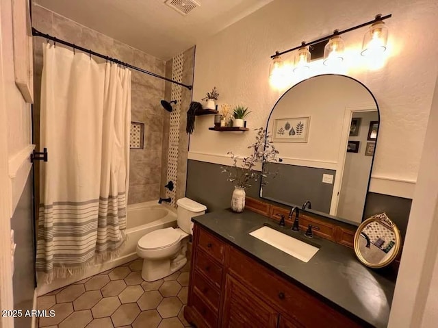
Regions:
<instances>
[{"instance_id":1,"label":"dark grey lower wall at far left beside the shower curtain","mask_svg":"<svg viewBox=\"0 0 438 328\"><path fill-rule=\"evenodd\" d=\"M21 198L18 201L14 215L11 218L11 228L14 230L16 243L14 256L14 310L22 310L23 316L14 319L15 327L31 327L31 317L25 317L26 310L32 310L35 288L34 266L34 220L32 215L32 175Z\"/></svg>"}]
</instances>

